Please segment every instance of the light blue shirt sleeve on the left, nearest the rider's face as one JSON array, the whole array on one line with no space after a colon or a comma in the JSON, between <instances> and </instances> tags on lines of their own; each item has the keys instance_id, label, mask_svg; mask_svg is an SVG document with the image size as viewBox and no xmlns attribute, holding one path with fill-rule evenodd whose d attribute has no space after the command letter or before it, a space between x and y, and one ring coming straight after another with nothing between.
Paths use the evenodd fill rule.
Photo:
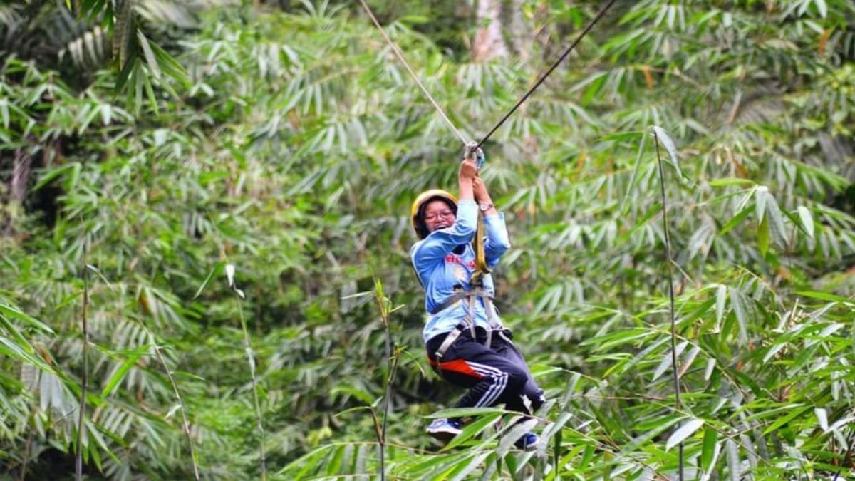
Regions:
<instances>
[{"instance_id":1,"label":"light blue shirt sleeve on the left, nearest the rider's face","mask_svg":"<svg viewBox=\"0 0 855 481\"><path fill-rule=\"evenodd\" d=\"M461 200L457 205L457 219L451 227L434 230L413 246L410 255L419 276L422 276L422 265L445 258L454 247L471 242L477 222L478 205L475 200Z\"/></svg>"}]
</instances>

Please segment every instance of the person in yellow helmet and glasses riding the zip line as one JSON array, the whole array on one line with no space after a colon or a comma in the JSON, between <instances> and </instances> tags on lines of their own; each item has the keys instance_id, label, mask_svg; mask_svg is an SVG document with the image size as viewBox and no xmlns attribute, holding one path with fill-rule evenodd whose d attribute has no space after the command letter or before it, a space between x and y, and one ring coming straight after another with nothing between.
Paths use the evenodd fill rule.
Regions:
<instances>
[{"instance_id":1,"label":"person in yellow helmet and glasses riding the zip line","mask_svg":"<svg viewBox=\"0 0 855 481\"><path fill-rule=\"evenodd\" d=\"M439 189L416 197L411 208L419 241L410 249L416 275L425 291L430 317L422 336L433 370L468 389L454 407L492 407L534 413L544 403L543 390L528 370L492 305L492 275L473 276L479 210L483 212L486 266L492 268L510 248L504 215L492 203L475 161L464 159L458 174L459 200ZM528 419L528 418L523 418ZM434 419L428 434L449 441L462 431L461 419ZM538 436L528 432L518 448L534 450Z\"/></svg>"}]
</instances>

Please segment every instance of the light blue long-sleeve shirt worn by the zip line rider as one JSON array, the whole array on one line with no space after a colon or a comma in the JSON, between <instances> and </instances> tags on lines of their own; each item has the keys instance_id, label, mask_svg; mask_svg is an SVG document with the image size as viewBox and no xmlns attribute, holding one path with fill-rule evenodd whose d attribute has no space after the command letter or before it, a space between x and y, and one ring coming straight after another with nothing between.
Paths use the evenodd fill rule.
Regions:
<instances>
[{"instance_id":1,"label":"light blue long-sleeve shirt worn by the zip line rider","mask_svg":"<svg viewBox=\"0 0 855 481\"><path fill-rule=\"evenodd\" d=\"M475 272L475 250L471 242L475 238L477 223L478 205L474 200L461 200L457 205L457 219L451 227L433 231L410 249L413 267L416 268L416 274L425 289L425 309L428 314L454 295L455 286L469 290L469 279ZM484 256L487 266L492 268L510 248L504 215L499 213L484 217L484 227ZM453 252L457 246L464 246L462 253ZM484 289L491 296L495 295L492 276L489 274L484 276ZM422 330L422 337L428 341L434 336L454 330L466 316L468 309L465 300L458 300L443 311L430 315ZM495 308L492 317L494 322L498 321ZM475 302L473 318L476 326L489 328L489 316L482 300Z\"/></svg>"}]
</instances>

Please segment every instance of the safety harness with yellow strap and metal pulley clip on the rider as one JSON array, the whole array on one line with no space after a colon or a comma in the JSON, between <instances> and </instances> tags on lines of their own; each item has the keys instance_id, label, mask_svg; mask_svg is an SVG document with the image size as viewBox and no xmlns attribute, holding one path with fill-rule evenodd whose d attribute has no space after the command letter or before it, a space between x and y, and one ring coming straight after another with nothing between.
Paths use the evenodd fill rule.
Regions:
<instances>
[{"instance_id":1,"label":"safety harness with yellow strap and metal pulley clip on the rider","mask_svg":"<svg viewBox=\"0 0 855 481\"><path fill-rule=\"evenodd\" d=\"M481 169L485 160L484 152L478 148L478 145L475 142L466 146L465 155L468 158L475 157L479 163L478 167ZM475 302L477 302L479 298L484 302L487 324L489 324L489 328L486 330L486 341L484 341L484 345L486 347L490 347L492 345L493 331L497 331L498 336L502 337L505 341L510 342L510 339L504 335L504 326L498 322L498 319L494 315L495 309L493 309L492 305L492 296L486 291L486 288L484 288L484 276L491 272L490 267L486 264L486 253L484 252L485 235L486 228L484 227L484 213L481 212L481 215L478 216L478 227L475 229L475 242L473 243L473 249L475 250L475 272L473 272L472 276L469 278L469 290L463 289L463 287L456 287L454 294L431 312L431 314L435 315L457 304L460 300L466 300L466 315L463 317L463 320L457 324L454 330L445 336L445 341L439 345L439 349L437 349L435 353L437 362L442 359L445 352L448 351L449 347L451 347L451 344L454 344L454 341L457 341L457 338L460 337L464 330L469 330L473 340L477 339L475 336Z\"/></svg>"}]
</instances>

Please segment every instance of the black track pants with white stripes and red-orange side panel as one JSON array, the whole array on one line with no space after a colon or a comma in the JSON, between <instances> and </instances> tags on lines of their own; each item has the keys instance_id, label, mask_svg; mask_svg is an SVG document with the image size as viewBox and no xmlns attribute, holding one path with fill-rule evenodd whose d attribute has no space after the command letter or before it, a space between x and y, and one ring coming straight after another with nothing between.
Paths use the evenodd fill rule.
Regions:
<instances>
[{"instance_id":1,"label":"black track pants with white stripes and red-orange side panel","mask_svg":"<svg viewBox=\"0 0 855 481\"><path fill-rule=\"evenodd\" d=\"M428 340L428 359L440 377L469 389L454 407L492 407L504 403L509 411L534 413L544 403L543 389L534 383L520 350L510 341L510 331L494 331L486 347L486 331L478 328L475 339L464 330L437 361L436 351L445 335Z\"/></svg>"}]
</instances>

